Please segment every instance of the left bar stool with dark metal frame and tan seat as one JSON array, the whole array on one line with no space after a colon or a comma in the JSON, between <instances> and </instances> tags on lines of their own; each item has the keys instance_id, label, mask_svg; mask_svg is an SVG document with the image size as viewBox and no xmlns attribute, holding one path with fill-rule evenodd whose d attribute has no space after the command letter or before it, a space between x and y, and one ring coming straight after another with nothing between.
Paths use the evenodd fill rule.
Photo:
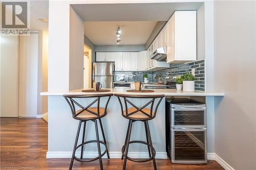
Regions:
<instances>
[{"instance_id":1,"label":"left bar stool with dark metal frame and tan seat","mask_svg":"<svg viewBox=\"0 0 256 170\"><path fill-rule=\"evenodd\" d=\"M101 170L103 169L101 157L103 155L105 155L105 153L106 153L108 155L108 159L110 159L109 150L108 150L108 146L106 144L106 139L105 139L105 135L104 135L104 131L103 131L103 126L102 126L102 123L101 123L101 118L106 115L106 109L108 107L108 104L109 104L109 101L110 101L110 98L111 98L112 95L113 95L112 93L108 93L108 94L86 94L86 95L63 95L63 97L66 99L66 101L68 102L68 104L71 108L73 118L75 118L77 120L80 120L79 125L78 125L78 129L77 129L73 154L72 154L72 158L71 158L71 162L70 162L70 167L69 167L70 170L72 169L74 159L77 160L77 161L80 161L80 162L91 162L91 161L99 159ZM102 107L100 107L100 99L104 98L104 97L106 97L106 98L108 97L108 99L106 100L105 108L102 108ZM79 104L76 101L76 99L81 99L81 98L96 98L96 99L92 103L90 103L88 106L83 107L81 104ZM97 102L97 107L92 107L93 104L95 104L96 102ZM79 109L76 109L76 108L79 108ZM102 133L102 136L103 136L103 141L99 140L97 119L99 120L100 129L101 129L101 133ZM97 140L84 141L85 132L86 132L86 123L89 120L91 120L95 124ZM77 146L77 141L78 141L79 132L80 132L82 123L83 123L82 143ZM97 143L98 154L99 154L98 157L83 158L83 145L88 144L88 143ZM105 146L105 151L102 154L101 154L101 151L100 151L100 143ZM77 158L75 156L75 152L79 147L81 147L81 155L80 155L80 158Z\"/></svg>"}]
</instances>

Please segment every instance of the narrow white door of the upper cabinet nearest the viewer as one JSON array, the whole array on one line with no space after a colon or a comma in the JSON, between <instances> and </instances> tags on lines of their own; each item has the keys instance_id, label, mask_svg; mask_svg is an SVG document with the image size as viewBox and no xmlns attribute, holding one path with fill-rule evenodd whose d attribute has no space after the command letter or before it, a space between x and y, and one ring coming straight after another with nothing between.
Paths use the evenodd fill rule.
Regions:
<instances>
[{"instance_id":1,"label":"narrow white door of the upper cabinet nearest the viewer","mask_svg":"<svg viewBox=\"0 0 256 170\"><path fill-rule=\"evenodd\" d=\"M167 63L175 60L175 30L174 30L175 14L168 21L168 52Z\"/></svg>"}]
</instances>

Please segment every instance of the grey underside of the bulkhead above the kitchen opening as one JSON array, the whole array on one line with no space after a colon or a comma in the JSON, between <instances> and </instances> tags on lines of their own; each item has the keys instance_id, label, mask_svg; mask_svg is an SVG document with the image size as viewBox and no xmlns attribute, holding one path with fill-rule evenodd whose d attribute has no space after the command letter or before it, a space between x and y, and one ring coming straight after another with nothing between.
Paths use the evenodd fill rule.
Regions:
<instances>
[{"instance_id":1,"label":"grey underside of the bulkhead above the kitchen opening","mask_svg":"<svg viewBox=\"0 0 256 170\"><path fill-rule=\"evenodd\" d=\"M197 10L203 3L73 4L84 21L167 21L177 10Z\"/></svg>"}]
</instances>

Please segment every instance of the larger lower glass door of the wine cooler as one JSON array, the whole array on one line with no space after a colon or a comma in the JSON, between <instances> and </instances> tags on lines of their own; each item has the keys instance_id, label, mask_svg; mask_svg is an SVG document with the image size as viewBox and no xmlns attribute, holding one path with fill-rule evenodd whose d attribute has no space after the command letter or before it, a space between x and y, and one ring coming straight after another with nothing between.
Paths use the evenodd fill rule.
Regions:
<instances>
[{"instance_id":1,"label":"larger lower glass door of the wine cooler","mask_svg":"<svg viewBox=\"0 0 256 170\"><path fill-rule=\"evenodd\" d=\"M207 163L206 128L172 128L172 163Z\"/></svg>"}]
</instances>

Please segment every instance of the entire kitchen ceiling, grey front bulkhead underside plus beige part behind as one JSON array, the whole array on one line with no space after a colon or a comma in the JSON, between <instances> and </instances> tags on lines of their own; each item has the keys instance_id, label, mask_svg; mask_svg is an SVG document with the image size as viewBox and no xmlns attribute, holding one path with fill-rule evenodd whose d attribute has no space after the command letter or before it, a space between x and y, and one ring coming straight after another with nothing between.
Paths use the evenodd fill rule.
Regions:
<instances>
[{"instance_id":1,"label":"entire kitchen ceiling, grey front bulkhead underside plus beige part behind","mask_svg":"<svg viewBox=\"0 0 256 170\"><path fill-rule=\"evenodd\" d=\"M116 45L121 28L121 45L145 44L157 21L167 21L176 10L197 10L203 3L73 4L85 21L84 34L95 45Z\"/></svg>"}]
</instances>

